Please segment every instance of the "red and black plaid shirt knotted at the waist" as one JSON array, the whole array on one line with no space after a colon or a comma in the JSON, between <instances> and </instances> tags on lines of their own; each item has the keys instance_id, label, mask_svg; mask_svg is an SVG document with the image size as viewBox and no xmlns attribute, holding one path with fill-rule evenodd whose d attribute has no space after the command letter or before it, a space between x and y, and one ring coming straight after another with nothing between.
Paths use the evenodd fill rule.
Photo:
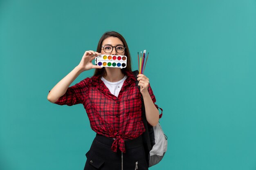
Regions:
<instances>
[{"instance_id":1,"label":"red and black plaid shirt knotted at the waist","mask_svg":"<svg viewBox=\"0 0 256 170\"><path fill-rule=\"evenodd\" d=\"M55 102L67 106L83 104L92 130L115 138L111 148L115 152L117 147L125 152L124 140L135 139L145 131L141 117L141 93L135 84L137 79L132 72L127 71L126 75L128 77L118 97L110 93L100 79L101 75L97 75L67 88L67 92ZM155 103L155 95L150 85L148 92ZM156 104L155 106L158 108ZM159 115L161 117L162 113Z\"/></svg>"}]
</instances>

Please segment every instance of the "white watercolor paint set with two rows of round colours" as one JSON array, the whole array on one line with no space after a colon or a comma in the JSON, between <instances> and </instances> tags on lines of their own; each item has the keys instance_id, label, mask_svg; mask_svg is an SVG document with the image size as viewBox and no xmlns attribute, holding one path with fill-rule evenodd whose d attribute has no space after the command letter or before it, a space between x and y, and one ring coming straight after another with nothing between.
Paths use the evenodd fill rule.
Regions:
<instances>
[{"instance_id":1,"label":"white watercolor paint set with two rows of round colours","mask_svg":"<svg viewBox=\"0 0 256 170\"><path fill-rule=\"evenodd\" d=\"M126 68L127 57L125 55L101 54L95 57L95 64L101 67Z\"/></svg>"}]
</instances>

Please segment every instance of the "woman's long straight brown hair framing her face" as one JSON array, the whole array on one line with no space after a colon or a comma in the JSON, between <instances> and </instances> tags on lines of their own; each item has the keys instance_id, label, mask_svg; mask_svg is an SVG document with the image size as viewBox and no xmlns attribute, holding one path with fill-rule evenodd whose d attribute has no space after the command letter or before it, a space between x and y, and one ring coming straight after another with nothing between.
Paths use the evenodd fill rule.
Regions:
<instances>
[{"instance_id":1,"label":"woman's long straight brown hair framing her face","mask_svg":"<svg viewBox=\"0 0 256 170\"><path fill-rule=\"evenodd\" d=\"M97 52L98 53L101 52L102 42L103 42L103 40L105 40L108 37L117 37L117 38L119 38L119 40L121 40L123 42L124 46L126 47L125 51L124 51L124 55L126 55L126 57L127 57L127 63L126 63L127 65L126 65L126 68L121 68L121 71L124 74L126 74L125 73L126 71L132 71L132 67L131 67L132 60L131 60L131 57L130 57L130 51L129 51L128 45L126 43L126 40L124 39L124 37L121 34L115 32L115 31L108 31L108 32L104 33L101 36L101 39L99 40L99 43L98 43L98 46L97 46ZM95 75L106 75L105 67L96 68L95 71L94 71L93 76L95 76Z\"/></svg>"}]
</instances>

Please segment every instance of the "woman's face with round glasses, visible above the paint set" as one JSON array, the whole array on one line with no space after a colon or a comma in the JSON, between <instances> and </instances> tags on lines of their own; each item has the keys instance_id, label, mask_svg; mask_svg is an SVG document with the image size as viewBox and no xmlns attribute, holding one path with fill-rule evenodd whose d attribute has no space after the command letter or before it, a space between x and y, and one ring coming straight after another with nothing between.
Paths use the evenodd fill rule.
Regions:
<instances>
[{"instance_id":1,"label":"woman's face with round glasses, visible above the paint set","mask_svg":"<svg viewBox=\"0 0 256 170\"><path fill-rule=\"evenodd\" d=\"M110 46L114 46L113 50L111 53L106 53L105 51L110 50L112 47L110 46L106 46L106 45L110 45ZM121 46L119 46L121 45ZM117 38L117 37L108 37L105 40L103 40L102 42L102 46L105 46L105 51L103 50L103 47L101 47L101 53L102 54L108 54L108 55L124 55L125 51L122 53L118 53L117 51L122 49L122 46L124 46L123 42ZM115 49L115 46L117 46L117 51ZM110 50L111 51L111 50Z\"/></svg>"}]
</instances>

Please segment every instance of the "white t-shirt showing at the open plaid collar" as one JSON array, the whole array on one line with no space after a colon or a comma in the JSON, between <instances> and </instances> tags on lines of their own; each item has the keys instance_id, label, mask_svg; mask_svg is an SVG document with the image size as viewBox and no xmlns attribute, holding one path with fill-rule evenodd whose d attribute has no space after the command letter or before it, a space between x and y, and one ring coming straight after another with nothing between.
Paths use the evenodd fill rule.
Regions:
<instances>
[{"instance_id":1,"label":"white t-shirt showing at the open plaid collar","mask_svg":"<svg viewBox=\"0 0 256 170\"><path fill-rule=\"evenodd\" d=\"M124 80L126 80L126 78L127 78L127 75L125 75L124 78L119 80L118 82L109 82L108 80L104 79L104 77L101 76L101 80L107 86L110 93L115 95L116 97L118 97L118 94L121 91L121 88L124 84Z\"/></svg>"}]
</instances>

